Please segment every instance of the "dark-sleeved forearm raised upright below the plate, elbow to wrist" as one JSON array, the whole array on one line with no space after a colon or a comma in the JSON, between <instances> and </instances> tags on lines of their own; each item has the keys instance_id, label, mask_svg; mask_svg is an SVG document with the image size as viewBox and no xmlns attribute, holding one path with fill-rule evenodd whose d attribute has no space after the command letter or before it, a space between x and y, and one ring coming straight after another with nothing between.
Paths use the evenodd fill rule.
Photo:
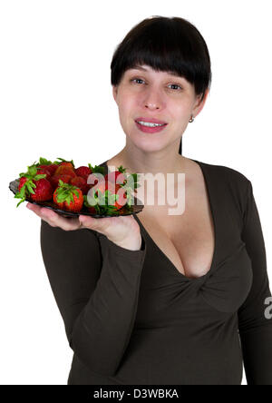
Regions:
<instances>
[{"instance_id":1,"label":"dark-sleeved forearm raised upright below the plate, elbow to wrist","mask_svg":"<svg viewBox=\"0 0 272 403\"><path fill-rule=\"evenodd\" d=\"M90 370L112 376L131 337L144 251L102 242L108 242L102 275L73 324L69 344Z\"/></svg>"}]
</instances>

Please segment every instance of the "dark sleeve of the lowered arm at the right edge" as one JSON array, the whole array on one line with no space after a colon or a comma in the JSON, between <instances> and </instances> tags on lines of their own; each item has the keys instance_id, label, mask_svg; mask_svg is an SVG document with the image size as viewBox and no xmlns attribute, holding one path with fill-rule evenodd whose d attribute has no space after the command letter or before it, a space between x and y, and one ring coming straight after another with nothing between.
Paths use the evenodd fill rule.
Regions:
<instances>
[{"instance_id":1,"label":"dark sleeve of the lowered arm at the right edge","mask_svg":"<svg viewBox=\"0 0 272 403\"><path fill-rule=\"evenodd\" d=\"M248 385L272 385L272 318L269 319L271 314L265 315L265 310L271 305L271 300L267 299L271 292L265 242L250 181L242 239L246 242L253 271L247 300L238 310L238 332L246 378Z\"/></svg>"}]
</instances>

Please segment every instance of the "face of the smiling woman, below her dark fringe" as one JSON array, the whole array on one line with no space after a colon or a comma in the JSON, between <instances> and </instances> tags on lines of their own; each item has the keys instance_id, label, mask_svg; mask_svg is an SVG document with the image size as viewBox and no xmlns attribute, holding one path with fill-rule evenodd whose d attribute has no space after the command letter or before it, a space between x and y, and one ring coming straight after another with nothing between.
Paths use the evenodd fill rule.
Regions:
<instances>
[{"instance_id":1,"label":"face of the smiling woman, below her dark fringe","mask_svg":"<svg viewBox=\"0 0 272 403\"><path fill-rule=\"evenodd\" d=\"M200 112L208 94L200 103L200 95L195 95L193 85L185 78L156 72L148 65L127 70L112 92L124 133L147 152L180 144L191 114L195 117ZM158 133L143 133L135 123L139 117L168 124Z\"/></svg>"}]
</instances>

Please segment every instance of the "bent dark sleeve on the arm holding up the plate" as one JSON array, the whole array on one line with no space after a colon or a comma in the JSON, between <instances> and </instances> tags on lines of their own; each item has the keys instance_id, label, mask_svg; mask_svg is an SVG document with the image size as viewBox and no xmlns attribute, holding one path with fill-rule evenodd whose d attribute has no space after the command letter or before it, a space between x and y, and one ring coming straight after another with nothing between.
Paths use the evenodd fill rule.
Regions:
<instances>
[{"instance_id":1,"label":"bent dark sleeve on the arm holding up the plate","mask_svg":"<svg viewBox=\"0 0 272 403\"><path fill-rule=\"evenodd\" d=\"M112 376L129 343L146 253L141 240L141 250L131 251L96 231L41 222L44 266L69 345L94 373Z\"/></svg>"}]
</instances>

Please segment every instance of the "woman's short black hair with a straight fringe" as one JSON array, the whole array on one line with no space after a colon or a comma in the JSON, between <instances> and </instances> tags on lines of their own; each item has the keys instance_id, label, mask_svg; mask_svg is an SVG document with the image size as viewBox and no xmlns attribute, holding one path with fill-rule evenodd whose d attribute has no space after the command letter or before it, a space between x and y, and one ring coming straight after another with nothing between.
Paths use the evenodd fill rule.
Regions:
<instances>
[{"instance_id":1,"label":"woman's short black hair with a straight fringe","mask_svg":"<svg viewBox=\"0 0 272 403\"><path fill-rule=\"evenodd\" d=\"M119 85L126 70L141 64L185 77L195 93L202 94L201 101L211 84L207 44L199 30L184 18L152 15L133 26L112 56L112 85Z\"/></svg>"}]
</instances>

